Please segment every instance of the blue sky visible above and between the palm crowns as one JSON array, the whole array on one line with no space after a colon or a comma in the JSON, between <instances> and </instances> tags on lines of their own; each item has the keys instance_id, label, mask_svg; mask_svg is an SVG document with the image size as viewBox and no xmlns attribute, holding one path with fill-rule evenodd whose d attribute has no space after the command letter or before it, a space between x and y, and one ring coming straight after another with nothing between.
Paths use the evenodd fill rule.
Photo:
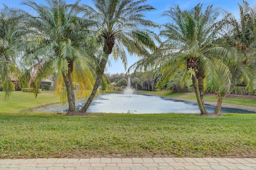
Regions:
<instances>
[{"instance_id":1,"label":"blue sky visible above and between the palm crowns","mask_svg":"<svg viewBox=\"0 0 256 170\"><path fill-rule=\"evenodd\" d=\"M36 3L44 3L44 0L34 0ZM76 0L66 0L67 4L72 4ZM6 4L10 7L18 7L22 8L28 12L32 12L29 8L27 8L24 5L20 5L21 0L0 0L0 8L3 8L2 4ZM146 14L148 20L152 20L156 23L163 24L168 22L168 18L161 17L162 12L168 10L170 6L173 5L179 5L182 10L184 9L191 9L194 6L196 6L198 3L204 3L204 7L210 4L214 4L214 7L221 7L225 10L228 10L228 12L232 12L235 16L238 14L238 3L241 3L242 0L147 0L146 4L150 4L156 8L155 11L150 12ZM256 4L255 0L247 0L249 4L254 5ZM90 6L93 6L91 0L81 0L80 3L88 4ZM155 30L158 32L158 30ZM128 56L128 66L132 65L138 60L138 57L135 56ZM122 65L122 62L119 60L117 62L111 61L111 66L108 67L107 72L110 72L111 74L115 73L121 73L126 72L124 70L124 66Z\"/></svg>"}]
</instances>

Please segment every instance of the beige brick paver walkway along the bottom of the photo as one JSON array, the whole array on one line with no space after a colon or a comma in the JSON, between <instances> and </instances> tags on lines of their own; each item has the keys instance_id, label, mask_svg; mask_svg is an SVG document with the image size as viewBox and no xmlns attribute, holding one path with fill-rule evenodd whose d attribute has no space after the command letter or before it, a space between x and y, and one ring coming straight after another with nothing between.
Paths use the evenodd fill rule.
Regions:
<instances>
[{"instance_id":1,"label":"beige brick paver walkway along the bottom of the photo","mask_svg":"<svg viewBox=\"0 0 256 170\"><path fill-rule=\"evenodd\" d=\"M0 170L256 170L256 158L0 159Z\"/></svg>"}]
</instances>

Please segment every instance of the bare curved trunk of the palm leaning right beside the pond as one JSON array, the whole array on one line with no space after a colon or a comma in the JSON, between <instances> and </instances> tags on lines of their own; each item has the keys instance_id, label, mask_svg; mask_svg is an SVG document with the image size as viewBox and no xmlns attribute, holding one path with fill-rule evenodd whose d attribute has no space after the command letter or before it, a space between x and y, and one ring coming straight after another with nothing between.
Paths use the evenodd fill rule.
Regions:
<instances>
[{"instance_id":1,"label":"bare curved trunk of the palm leaning right beside the pond","mask_svg":"<svg viewBox=\"0 0 256 170\"><path fill-rule=\"evenodd\" d=\"M106 63L107 63L107 61L105 61L105 60L100 62L100 70L97 74L97 78L95 80L95 84L93 86L92 93L90 94L90 96L89 96L88 100L86 101L86 104L84 105L84 107L81 109L81 112L83 112L83 113L86 113L88 107L90 106L90 104L92 103L92 100L94 99L94 96L96 95L96 92L97 92L97 90L100 86L102 76L104 74Z\"/></svg>"}]
</instances>

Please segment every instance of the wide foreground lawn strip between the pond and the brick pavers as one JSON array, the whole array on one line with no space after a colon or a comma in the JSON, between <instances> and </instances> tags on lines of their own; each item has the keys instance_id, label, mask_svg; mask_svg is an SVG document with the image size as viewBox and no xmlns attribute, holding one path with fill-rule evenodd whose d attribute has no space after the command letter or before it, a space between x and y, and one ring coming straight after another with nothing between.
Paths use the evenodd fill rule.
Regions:
<instances>
[{"instance_id":1,"label":"wide foreground lawn strip between the pond and the brick pavers","mask_svg":"<svg viewBox=\"0 0 256 170\"><path fill-rule=\"evenodd\" d=\"M0 158L256 157L256 114L0 113Z\"/></svg>"}]
</instances>

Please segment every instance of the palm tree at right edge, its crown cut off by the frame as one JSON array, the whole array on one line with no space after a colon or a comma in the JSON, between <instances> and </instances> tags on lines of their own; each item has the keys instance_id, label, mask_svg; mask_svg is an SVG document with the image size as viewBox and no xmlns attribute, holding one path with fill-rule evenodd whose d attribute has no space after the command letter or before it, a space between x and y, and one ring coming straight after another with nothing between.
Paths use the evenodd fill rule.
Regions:
<instances>
[{"instance_id":1,"label":"palm tree at right edge, its crown cut off by the frame","mask_svg":"<svg viewBox=\"0 0 256 170\"><path fill-rule=\"evenodd\" d=\"M250 90L254 90L255 87L253 88L253 86L256 84L256 79L255 76L252 78L252 72L255 72L252 65L255 63L253 55L256 46L256 6L250 7L250 4L243 0L242 4L238 4L238 7L240 18L237 20L233 15L229 16L228 32L223 37L223 43L229 47L230 51L233 51L232 57L228 57L228 53L219 54L219 56L225 56L222 61L230 68L231 87L244 81ZM250 67L252 68L250 69ZM222 98L228 93L229 90L219 89L215 113L220 114Z\"/></svg>"}]
</instances>

